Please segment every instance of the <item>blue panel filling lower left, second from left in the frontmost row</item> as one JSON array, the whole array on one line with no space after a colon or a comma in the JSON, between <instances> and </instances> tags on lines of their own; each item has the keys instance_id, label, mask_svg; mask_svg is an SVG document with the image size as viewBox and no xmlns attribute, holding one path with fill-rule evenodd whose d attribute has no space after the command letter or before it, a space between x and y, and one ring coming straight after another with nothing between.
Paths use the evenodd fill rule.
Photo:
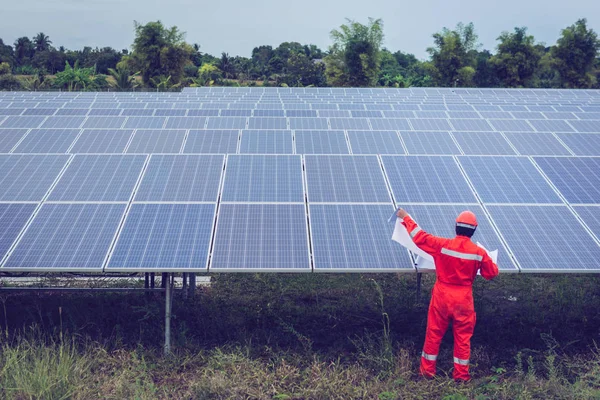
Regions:
<instances>
[{"instance_id":1,"label":"blue panel filling lower left, second from left in the frontmost row","mask_svg":"<svg viewBox=\"0 0 600 400\"><path fill-rule=\"evenodd\" d=\"M3 268L101 271L125 207L44 204Z\"/></svg>"}]
</instances>

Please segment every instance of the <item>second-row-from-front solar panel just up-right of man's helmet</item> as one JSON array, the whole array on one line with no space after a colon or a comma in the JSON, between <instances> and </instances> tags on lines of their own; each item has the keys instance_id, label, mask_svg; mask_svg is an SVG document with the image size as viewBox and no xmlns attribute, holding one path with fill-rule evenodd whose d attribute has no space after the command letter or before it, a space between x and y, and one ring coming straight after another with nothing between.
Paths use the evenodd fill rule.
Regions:
<instances>
[{"instance_id":1,"label":"second-row-from-front solar panel just up-right of man's helmet","mask_svg":"<svg viewBox=\"0 0 600 400\"><path fill-rule=\"evenodd\" d=\"M459 157L484 203L562 203L524 157Z\"/></svg>"}]
</instances>

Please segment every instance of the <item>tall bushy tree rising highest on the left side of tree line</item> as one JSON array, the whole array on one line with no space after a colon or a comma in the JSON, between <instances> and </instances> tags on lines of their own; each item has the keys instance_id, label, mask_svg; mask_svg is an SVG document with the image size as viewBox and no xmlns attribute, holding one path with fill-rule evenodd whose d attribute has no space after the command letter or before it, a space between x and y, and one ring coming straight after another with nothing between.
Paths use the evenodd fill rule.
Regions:
<instances>
[{"instance_id":1,"label":"tall bushy tree rising highest on the left side of tree line","mask_svg":"<svg viewBox=\"0 0 600 400\"><path fill-rule=\"evenodd\" d=\"M194 52L184 36L176 26L167 29L160 21L146 25L136 22L133 52L126 59L129 67L140 71L146 84L152 84L152 78L159 76L170 77L172 84L179 83Z\"/></svg>"}]
</instances>

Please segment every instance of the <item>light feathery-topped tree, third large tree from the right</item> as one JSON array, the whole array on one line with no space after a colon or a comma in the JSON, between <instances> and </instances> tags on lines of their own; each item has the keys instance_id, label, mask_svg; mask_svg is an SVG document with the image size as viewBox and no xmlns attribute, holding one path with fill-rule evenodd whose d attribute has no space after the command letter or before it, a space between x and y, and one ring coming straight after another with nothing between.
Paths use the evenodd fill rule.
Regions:
<instances>
[{"instance_id":1,"label":"light feathery-topped tree, third large tree from the right","mask_svg":"<svg viewBox=\"0 0 600 400\"><path fill-rule=\"evenodd\" d=\"M470 86L475 75L475 56L478 36L473 23L459 23L455 30L448 28L433 35L434 46L430 71L439 86Z\"/></svg>"}]
</instances>

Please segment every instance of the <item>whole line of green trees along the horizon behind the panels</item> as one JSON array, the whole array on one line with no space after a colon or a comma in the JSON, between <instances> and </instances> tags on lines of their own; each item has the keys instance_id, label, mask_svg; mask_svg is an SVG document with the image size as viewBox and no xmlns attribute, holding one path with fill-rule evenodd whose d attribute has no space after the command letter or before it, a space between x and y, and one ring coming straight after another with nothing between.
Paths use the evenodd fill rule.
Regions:
<instances>
[{"instance_id":1,"label":"whole line of green trees along the horizon behind the panels","mask_svg":"<svg viewBox=\"0 0 600 400\"><path fill-rule=\"evenodd\" d=\"M381 19L347 20L332 44L284 42L258 46L250 57L203 53L176 26L134 24L131 51L68 50L38 33L11 46L0 39L0 90L132 90L183 86L599 88L600 40L586 19L536 42L526 27L502 32L483 49L473 23L432 35L429 59L383 46Z\"/></svg>"}]
</instances>

